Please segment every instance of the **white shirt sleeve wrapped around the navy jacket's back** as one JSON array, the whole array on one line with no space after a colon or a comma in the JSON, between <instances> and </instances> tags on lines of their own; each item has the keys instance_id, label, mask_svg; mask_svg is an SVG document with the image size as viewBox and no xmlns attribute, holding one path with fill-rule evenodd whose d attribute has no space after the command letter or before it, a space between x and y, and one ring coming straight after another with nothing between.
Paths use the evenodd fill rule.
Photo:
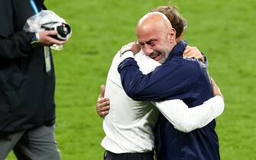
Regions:
<instances>
[{"instance_id":1,"label":"white shirt sleeve wrapped around the navy jacket's back","mask_svg":"<svg viewBox=\"0 0 256 160\"><path fill-rule=\"evenodd\" d=\"M190 108L181 100L155 102L154 104L177 130L185 133L206 126L222 114L225 106L220 96L215 96L199 106Z\"/></svg>"}]
</instances>

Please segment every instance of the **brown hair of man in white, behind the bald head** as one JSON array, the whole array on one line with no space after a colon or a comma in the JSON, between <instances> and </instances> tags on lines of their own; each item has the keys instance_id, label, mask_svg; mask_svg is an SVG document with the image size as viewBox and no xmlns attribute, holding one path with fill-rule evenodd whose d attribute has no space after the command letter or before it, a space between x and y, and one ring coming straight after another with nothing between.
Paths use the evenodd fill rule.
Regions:
<instances>
[{"instance_id":1,"label":"brown hair of man in white, behind the bald head","mask_svg":"<svg viewBox=\"0 0 256 160\"><path fill-rule=\"evenodd\" d=\"M176 37L180 37L183 32L184 27L186 27L186 20L180 15L180 12L177 11L175 6L158 6L157 8L152 9L151 11L159 11L170 21L170 24L176 30Z\"/></svg>"}]
</instances>

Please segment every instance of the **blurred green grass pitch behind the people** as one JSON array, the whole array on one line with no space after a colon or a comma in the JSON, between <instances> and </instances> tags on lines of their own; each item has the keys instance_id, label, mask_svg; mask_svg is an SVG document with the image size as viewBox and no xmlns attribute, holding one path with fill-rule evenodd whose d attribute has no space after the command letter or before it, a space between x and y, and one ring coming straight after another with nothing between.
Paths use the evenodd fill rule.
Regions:
<instances>
[{"instance_id":1,"label":"blurred green grass pitch behind the people","mask_svg":"<svg viewBox=\"0 0 256 160\"><path fill-rule=\"evenodd\" d=\"M158 5L177 5L188 21L185 39L209 59L209 72L225 95L217 119L223 160L256 159L255 0L46 0L65 18L73 36L53 51L57 73L56 136L63 160L102 159L99 86L121 46L136 40L141 16ZM16 159L11 153L8 160Z\"/></svg>"}]
</instances>

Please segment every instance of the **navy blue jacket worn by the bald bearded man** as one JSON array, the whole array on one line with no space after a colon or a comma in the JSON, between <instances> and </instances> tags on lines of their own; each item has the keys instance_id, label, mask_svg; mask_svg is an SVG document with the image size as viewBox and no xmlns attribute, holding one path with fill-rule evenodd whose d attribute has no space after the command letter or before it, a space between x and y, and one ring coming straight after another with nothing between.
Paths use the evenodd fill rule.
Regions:
<instances>
[{"instance_id":1,"label":"navy blue jacket worn by the bald bearded man","mask_svg":"<svg viewBox=\"0 0 256 160\"><path fill-rule=\"evenodd\" d=\"M181 99L189 107L212 98L212 85L206 67L196 59L183 59L185 46L185 42L178 43L167 61L147 75L141 73L134 59L121 62L118 72L126 94L135 101ZM203 128L183 133L160 115L156 145L160 160L220 159L215 120Z\"/></svg>"}]
</instances>

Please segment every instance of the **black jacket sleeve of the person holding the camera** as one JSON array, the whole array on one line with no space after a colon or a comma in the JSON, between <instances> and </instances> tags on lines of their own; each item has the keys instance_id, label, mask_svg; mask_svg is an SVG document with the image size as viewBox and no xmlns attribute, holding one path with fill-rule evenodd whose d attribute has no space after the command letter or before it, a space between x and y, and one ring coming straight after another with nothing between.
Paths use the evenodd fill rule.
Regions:
<instances>
[{"instance_id":1,"label":"black jacket sleeve of the person holding the camera","mask_svg":"<svg viewBox=\"0 0 256 160\"><path fill-rule=\"evenodd\" d=\"M21 1L20 3L22 3ZM23 2L24 3L24 2ZM30 14L31 6L27 2L26 5L19 6L20 12L17 11L18 6L13 1L0 2L0 59L15 59L28 56L31 50L31 41L34 33L26 33L22 30L24 21ZM28 11L29 10L29 11ZM17 18L17 16L19 16ZM24 20L21 20L24 18ZM21 23L22 22L22 23Z\"/></svg>"}]
</instances>

